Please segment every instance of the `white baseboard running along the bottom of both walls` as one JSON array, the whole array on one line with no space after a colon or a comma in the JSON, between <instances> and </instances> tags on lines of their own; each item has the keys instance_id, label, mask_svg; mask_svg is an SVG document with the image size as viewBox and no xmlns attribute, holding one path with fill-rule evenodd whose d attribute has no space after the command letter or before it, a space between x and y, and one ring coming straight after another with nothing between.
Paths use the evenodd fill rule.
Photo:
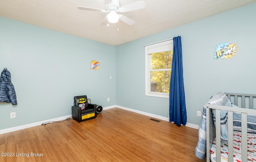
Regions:
<instances>
[{"instance_id":1,"label":"white baseboard running along the bottom of both walls","mask_svg":"<svg viewBox=\"0 0 256 162\"><path fill-rule=\"evenodd\" d=\"M118 105L103 107L103 110L112 109L112 108L115 108L115 107L119 108L119 109L124 109L124 110L127 110L127 111L132 111L134 113L146 115L146 116L149 116L149 117L153 117L153 118L156 118L156 119L161 119L163 121L169 121L169 118L167 118L167 117L162 117L160 115L154 115L154 114L150 114L150 113L146 113L146 112L143 112L143 111L138 111L138 110L134 110L134 109L130 109L130 108L127 108L127 107L118 106ZM48 122L48 121L61 121L61 120L64 120L64 119L70 118L70 117L72 117L72 115L66 115L66 116L63 116L63 117L48 119L48 120L45 120L45 121L34 122L34 123L25 124L25 125L21 125L21 126L15 126L15 127L12 127L12 128L6 128L6 129L0 130L0 134L13 132L13 131L21 130L21 129L25 129L25 128L30 128L30 127L33 127L33 126L38 126L38 125L41 125L42 123L45 123L45 122ZM199 128L199 125L191 124L191 123L187 123L185 126L188 126L190 128L195 128L195 129Z\"/></svg>"}]
</instances>

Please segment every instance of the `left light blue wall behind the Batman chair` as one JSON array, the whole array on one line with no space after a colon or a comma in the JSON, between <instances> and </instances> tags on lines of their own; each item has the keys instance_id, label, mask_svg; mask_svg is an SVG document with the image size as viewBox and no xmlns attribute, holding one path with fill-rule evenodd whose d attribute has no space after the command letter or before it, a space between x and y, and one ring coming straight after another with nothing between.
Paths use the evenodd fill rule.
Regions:
<instances>
[{"instance_id":1,"label":"left light blue wall behind the Batman chair","mask_svg":"<svg viewBox=\"0 0 256 162\"><path fill-rule=\"evenodd\" d=\"M71 115L76 95L116 104L116 46L2 17L0 24L0 72L10 71L18 101L0 103L0 130Z\"/></svg>"}]
</instances>

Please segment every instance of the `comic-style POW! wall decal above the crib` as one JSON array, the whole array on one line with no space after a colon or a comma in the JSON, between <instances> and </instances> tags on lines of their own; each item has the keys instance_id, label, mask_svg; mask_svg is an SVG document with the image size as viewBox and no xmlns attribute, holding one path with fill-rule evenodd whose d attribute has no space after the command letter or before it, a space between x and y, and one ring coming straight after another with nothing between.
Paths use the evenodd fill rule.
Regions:
<instances>
[{"instance_id":1,"label":"comic-style POW! wall decal above the crib","mask_svg":"<svg viewBox=\"0 0 256 162\"><path fill-rule=\"evenodd\" d=\"M236 43L231 44L231 43L220 43L220 45L217 45L216 49L215 49L215 57L213 59L219 59L219 58L225 58L228 59L228 57L230 59L232 59L232 56L235 55L237 46Z\"/></svg>"}]
</instances>

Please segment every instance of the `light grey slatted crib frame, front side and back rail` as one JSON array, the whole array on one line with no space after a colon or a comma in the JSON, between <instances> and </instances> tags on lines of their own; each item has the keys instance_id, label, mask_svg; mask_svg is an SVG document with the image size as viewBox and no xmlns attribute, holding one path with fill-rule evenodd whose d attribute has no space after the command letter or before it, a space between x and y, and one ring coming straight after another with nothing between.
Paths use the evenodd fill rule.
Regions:
<instances>
[{"instance_id":1,"label":"light grey slatted crib frame, front side and back rail","mask_svg":"<svg viewBox=\"0 0 256 162\"><path fill-rule=\"evenodd\" d=\"M228 150L231 150L231 153L228 154L228 162L233 162L233 112L241 113L241 128L242 128L242 161L247 161L247 114L256 114L254 105L254 100L256 95L248 94L238 94L238 93L225 93L232 103L235 105L241 105L239 107L245 108L235 108L235 107L226 107L219 105L206 105L206 161L210 162L210 148L214 137L216 137L216 162L220 162L220 110L228 111ZM233 101L232 101L233 100ZM212 119L212 109L216 110L216 128ZM232 139L232 140L230 140ZM230 152L230 151L229 151Z\"/></svg>"}]
</instances>

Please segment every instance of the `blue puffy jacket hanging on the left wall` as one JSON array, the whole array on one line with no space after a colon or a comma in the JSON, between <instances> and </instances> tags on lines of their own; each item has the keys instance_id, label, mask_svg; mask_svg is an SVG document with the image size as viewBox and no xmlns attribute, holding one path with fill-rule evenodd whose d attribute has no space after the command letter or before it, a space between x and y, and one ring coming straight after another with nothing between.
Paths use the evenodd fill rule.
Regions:
<instances>
[{"instance_id":1,"label":"blue puffy jacket hanging on the left wall","mask_svg":"<svg viewBox=\"0 0 256 162\"><path fill-rule=\"evenodd\" d=\"M11 73L4 69L0 77L0 102L17 105L16 93L11 82Z\"/></svg>"}]
</instances>

